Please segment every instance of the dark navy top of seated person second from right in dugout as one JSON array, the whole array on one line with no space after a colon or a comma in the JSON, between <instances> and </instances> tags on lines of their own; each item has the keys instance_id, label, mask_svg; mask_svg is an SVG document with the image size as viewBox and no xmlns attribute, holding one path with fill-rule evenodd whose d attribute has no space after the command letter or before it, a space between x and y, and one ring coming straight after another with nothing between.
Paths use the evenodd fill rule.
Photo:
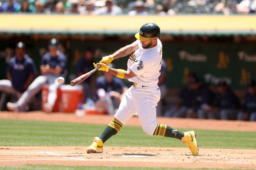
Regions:
<instances>
[{"instance_id":1,"label":"dark navy top of seated person second from right in dugout","mask_svg":"<svg viewBox=\"0 0 256 170\"><path fill-rule=\"evenodd\" d=\"M212 103L213 107L219 107L221 109L239 108L240 102L237 96L230 90L227 90L225 96L221 95L219 92L215 94L214 101Z\"/></svg>"}]
</instances>

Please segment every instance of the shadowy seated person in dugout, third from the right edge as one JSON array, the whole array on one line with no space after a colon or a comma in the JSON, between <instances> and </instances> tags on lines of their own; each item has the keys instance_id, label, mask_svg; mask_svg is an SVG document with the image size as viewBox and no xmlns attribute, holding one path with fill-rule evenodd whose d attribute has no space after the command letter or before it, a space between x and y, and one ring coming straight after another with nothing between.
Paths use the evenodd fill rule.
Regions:
<instances>
[{"instance_id":1,"label":"shadowy seated person in dugout, third from the right edge","mask_svg":"<svg viewBox=\"0 0 256 170\"><path fill-rule=\"evenodd\" d=\"M216 119L216 115L212 113L207 113L210 108L212 101L212 92L209 88L202 84L199 78L194 77L190 81L191 89L193 90L193 102L192 110L187 111L186 117L188 118L199 118L199 119Z\"/></svg>"}]
</instances>

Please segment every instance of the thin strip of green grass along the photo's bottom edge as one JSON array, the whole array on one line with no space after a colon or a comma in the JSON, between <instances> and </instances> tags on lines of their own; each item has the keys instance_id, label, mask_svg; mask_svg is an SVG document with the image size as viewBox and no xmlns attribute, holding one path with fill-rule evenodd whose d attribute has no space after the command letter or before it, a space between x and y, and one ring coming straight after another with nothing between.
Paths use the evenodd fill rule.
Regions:
<instances>
[{"instance_id":1,"label":"thin strip of green grass along the photo's bottom edge","mask_svg":"<svg viewBox=\"0 0 256 170\"><path fill-rule=\"evenodd\" d=\"M21 165L21 166L0 166L0 169L14 169L14 170L30 170L30 169L55 169L55 170L207 170L208 168L197 168L197 169L188 169L188 168L148 168L148 167L108 167L108 166L60 166L60 165ZM210 170L224 170L224 169L210 169ZM225 170L239 170L239 169L225 169ZM247 169L252 170L252 169Z\"/></svg>"}]
</instances>

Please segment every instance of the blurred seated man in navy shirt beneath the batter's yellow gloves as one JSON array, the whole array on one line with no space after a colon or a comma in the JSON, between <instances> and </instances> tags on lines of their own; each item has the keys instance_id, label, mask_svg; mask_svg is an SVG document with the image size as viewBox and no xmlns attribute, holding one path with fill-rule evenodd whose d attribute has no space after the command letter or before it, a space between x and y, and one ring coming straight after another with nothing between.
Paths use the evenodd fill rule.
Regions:
<instances>
[{"instance_id":1,"label":"blurred seated man in navy shirt beneath the batter's yellow gloves","mask_svg":"<svg viewBox=\"0 0 256 170\"><path fill-rule=\"evenodd\" d=\"M114 68L112 63L108 66ZM122 79L106 71L104 71L103 76L96 79L96 88L98 100L95 102L95 107L105 110L110 115L114 115L128 88Z\"/></svg>"}]
</instances>

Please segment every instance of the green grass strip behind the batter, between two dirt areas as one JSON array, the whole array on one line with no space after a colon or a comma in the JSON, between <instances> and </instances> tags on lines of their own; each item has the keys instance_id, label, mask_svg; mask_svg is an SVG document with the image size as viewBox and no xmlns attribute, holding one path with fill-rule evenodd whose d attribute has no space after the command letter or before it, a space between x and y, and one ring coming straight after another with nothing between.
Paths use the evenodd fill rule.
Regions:
<instances>
[{"instance_id":1,"label":"green grass strip behind the batter, between two dirt areas","mask_svg":"<svg viewBox=\"0 0 256 170\"><path fill-rule=\"evenodd\" d=\"M0 146L88 146L92 137L99 136L105 127L106 125L0 119ZM196 133L200 148L256 149L256 132L196 130ZM141 127L135 126L124 126L105 146L186 147L177 139L150 136Z\"/></svg>"}]
</instances>

